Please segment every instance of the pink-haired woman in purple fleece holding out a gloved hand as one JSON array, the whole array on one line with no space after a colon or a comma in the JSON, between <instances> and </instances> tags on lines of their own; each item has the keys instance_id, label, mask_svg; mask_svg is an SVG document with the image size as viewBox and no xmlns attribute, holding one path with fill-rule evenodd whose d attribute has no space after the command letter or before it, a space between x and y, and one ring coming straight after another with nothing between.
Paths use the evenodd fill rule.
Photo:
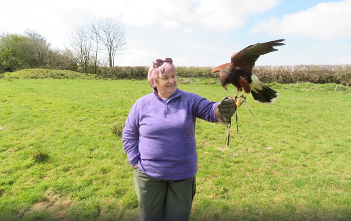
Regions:
<instances>
[{"instance_id":1,"label":"pink-haired woman in purple fleece holding out a gloved hand","mask_svg":"<svg viewBox=\"0 0 351 221\"><path fill-rule=\"evenodd\" d=\"M235 101L225 97L219 104L178 89L170 58L153 61L147 79L153 92L136 100L122 133L139 220L189 220L198 170L196 118L228 124Z\"/></svg>"}]
</instances>

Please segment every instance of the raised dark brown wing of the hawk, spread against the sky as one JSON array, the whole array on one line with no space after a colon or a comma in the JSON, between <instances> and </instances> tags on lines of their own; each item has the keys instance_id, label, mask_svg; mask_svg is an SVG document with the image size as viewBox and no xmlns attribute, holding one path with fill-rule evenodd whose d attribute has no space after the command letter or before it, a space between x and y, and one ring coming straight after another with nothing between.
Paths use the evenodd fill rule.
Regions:
<instances>
[{"instance_id":1,"label":"raised dark brown wing of the hawk, spread against the sky","mask_svg":"<svg viewBox=\"0 0 351 221\"><path fill-rule=\"evenodd\" d=\"M250 45L243 50L235 53L231 57L231 66L232 68L241 68L252 71L252 68L255 66L257 59L264 54L269 52L278 51L273 47L285 45L284 43L280 43L285 39L279 39L275 41L265 42L265 43L257 43L254 45Z\"/></svg>"}]
</instances>

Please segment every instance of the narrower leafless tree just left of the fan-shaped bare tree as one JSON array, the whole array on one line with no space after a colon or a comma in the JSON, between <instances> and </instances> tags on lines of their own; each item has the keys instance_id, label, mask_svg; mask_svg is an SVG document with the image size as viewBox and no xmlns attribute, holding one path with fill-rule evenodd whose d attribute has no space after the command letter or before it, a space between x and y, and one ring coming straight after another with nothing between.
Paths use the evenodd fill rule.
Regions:
<instances>
[{"instance_id":1,"label":"narrower leafless tree just left of the fan-shaped bare tree","mask_svg":"<svg viewBox=\"0 0 351 221\"><path fill-rule=\"evenodd\" d=\"M69 36L70 48L66 48L65 53L70 54L83 73L89 73L92 66L93 57L93 32L89 27L76 26L71 36Z\"/></svg>"}]
</instances>

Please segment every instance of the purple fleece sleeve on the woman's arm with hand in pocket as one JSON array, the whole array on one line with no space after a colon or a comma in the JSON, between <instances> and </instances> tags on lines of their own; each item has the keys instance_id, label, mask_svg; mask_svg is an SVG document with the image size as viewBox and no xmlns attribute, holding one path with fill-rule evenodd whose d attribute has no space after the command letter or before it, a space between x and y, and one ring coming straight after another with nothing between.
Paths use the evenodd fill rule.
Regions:
<instances>
[{"instance_id":1,"label":"purple fleece sleeve on the woman's arm with hand in pocket","mask_svg":"<svg viewBox=\"0 0 351 221\"><path fill-rule=\"evenodd\" d=\"M128 157L131 167L134 167L139 159L139 117L137 106L134 104L129 112L122 132L123 149Z\"/></svg>"}]
</instances>

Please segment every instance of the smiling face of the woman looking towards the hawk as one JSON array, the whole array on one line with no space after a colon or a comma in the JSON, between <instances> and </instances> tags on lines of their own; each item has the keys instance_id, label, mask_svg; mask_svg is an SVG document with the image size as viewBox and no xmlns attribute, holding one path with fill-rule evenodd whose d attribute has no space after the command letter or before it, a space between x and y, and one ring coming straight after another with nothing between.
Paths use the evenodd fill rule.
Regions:
<instances>
[{"instance_id":1,"label":"smiling face of the woman looking towards the hawk","mask_svg":"<svg viewBox=\"0 0 351 221\"><path fill-rule=\"evenodd\" d=\"M168 72L166 75L159 77L156 88L160 97L170 97L177 90L177 75L173 72Z\"/></svg>"}]
</instances>

